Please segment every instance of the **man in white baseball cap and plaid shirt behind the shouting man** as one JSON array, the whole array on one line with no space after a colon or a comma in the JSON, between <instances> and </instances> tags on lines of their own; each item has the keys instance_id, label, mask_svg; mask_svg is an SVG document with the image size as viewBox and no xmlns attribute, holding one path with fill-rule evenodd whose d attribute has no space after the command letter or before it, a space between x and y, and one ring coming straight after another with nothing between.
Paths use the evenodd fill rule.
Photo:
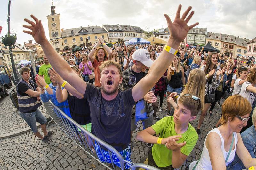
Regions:
<instances>
[{"instance_id":1,"label":"man in white baseball cap and plaid shirt behind the shouting man","mask_svg":"<svg viewBox=\"0 0 256 170\"><path fill-rule=\"evenodd\" d=\"M148 73L149 67L153 64L150 59L148 50L139 49L133 53L133 66L128 67L123 72L123 80L120 85L122 91L133 88L143 77ZM140 99L132 108L132 120L131 120L131 135L137 128L137 123L141 120L143 128L146 129L154 124L153 121L153 107L152 103L157 100L153 91L149 91L142 99ZM154 117L156 120L160 120L158 117ZM151 147L151 143L146 143L148 147Z\"/></svg>"}]
</instances>

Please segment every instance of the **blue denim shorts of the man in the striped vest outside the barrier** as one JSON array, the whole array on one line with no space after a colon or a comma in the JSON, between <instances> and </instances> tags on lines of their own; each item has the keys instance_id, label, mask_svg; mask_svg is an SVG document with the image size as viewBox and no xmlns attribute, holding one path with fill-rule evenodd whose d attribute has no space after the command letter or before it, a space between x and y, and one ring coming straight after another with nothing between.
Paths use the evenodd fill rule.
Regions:
<instances>
[{"instance_id":1,"label":"blue denim shorts of the man in the striped vest outside the barrier","mask_svg":"<svg viewBox=\"0 0 256 170\"><path fill-rule=\"evenodd\" d=\"M36 122L40 123L41 125L47 123L46 118L38 109L31 113L20 112L20 117L22 117L27 122L33 133L38 132Z\"/></svg>"}]
</instances>

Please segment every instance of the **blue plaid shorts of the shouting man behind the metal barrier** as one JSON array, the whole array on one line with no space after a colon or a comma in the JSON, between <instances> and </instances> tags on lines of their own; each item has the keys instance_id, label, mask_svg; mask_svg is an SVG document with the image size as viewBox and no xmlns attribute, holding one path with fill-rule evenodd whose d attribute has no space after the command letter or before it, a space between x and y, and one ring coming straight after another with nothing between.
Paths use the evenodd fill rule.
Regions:
<instances>
[{"instance_id":1,"label":"blue plaid shorts of the shouting man behind the metal barrier","mask_svg":"<svg viewBox=\"0 0 256 170\"><path fill-rule=\"evenodd\" d=\"M105 159L106 159L107 163L111 163L111 159L109 157L108 151L104 151L103 149L101 149L101 151L105 157L105 159L104 159L102 153L100 152L100 146L96 142L95 142L95 150L96 150L98 158L100 159L100 161L102 163L105 163ZM121 151L119 153L123 156L124 160L131 162L131 145L129 145L126 149L124 149L123 151ZM114 153L111 153L111 155L112 155L113 163L120 168L119 159L116 157L116 155ZM125 162L125 169L129 169L130 167L131 166L127 165L127 163Z\"/></svg>"}]
</instances>

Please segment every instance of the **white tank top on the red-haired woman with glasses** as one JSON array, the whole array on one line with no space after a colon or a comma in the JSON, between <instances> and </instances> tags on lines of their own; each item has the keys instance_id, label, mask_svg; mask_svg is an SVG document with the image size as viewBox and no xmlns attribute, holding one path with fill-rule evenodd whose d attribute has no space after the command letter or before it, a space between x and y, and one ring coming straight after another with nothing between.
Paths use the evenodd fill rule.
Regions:
<instances>
[{"instance_id":1,"label":"white tank top on the red-haired woman with glasses","mask_svg":"<svg viewBox=\"0 0 256 170\"><path fill-rule=\"evenodd\" d=\"M228 151L225 151L225 149L224 149L224 139L222 138L219 129L215 128L215 129L209 131L209 133L212 133L212 132L215 132L220 136L221 151L223 153L224 160L226 160L226 158L228 156L229 149L228 149ZM208 136L208 134L207 134L207 136ZM207 136L206 136L206 138L207 138ZM206 138L205 138L205 140L206 140ZM236 144L237 144L237 134L236 134L236 132L234 132L234 139L235 139L235 149L231 150L230 155L228 157L228 161L226 162L226 166L228 166L228 164L231 163L233 161L234 157L235 157ZM189 165L189 170L192 170L195 165L196 165L196 161L191 162L191 164ZM204 148L203 148L201 158L200 158L199 163L197 164L195 170L212 170L212 164L211 164L211 160L210 160L210 156L209 156L209 151L206 148L205 141L204 141Z\"/></svg>"}]
</instances>

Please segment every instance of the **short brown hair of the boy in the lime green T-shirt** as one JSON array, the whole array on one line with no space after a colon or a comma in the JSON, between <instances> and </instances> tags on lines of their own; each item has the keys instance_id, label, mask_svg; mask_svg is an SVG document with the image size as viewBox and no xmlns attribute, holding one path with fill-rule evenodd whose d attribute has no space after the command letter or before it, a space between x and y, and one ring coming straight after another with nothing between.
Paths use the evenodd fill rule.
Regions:
<instances>
[{"instance_id":1,"label":"short brown hair of the boy in the lime green T-shirt","mask_svg":"<svg viewBox=\"0 0 256 170\"><path fill-rule=\"evenodd\" d=\"M183 104L191 112L191 116L197 116L198 112L203 109L200 100L192 99L192 96L181 95L178 103Z\"/></svg>"}]
</instances>

